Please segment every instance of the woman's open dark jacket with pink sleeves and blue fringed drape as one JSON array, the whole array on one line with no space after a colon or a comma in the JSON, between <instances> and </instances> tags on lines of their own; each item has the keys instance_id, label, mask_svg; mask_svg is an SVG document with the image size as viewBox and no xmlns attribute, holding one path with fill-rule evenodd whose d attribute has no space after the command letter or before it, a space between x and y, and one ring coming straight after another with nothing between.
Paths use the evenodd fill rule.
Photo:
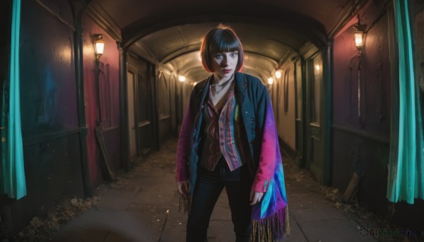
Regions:
<instances>
[{"instance_id":1,"label":"woman's open dark jacket with pink sleeves and blue fringed drape","mask_svg":"<svg viewBox=\"0 0 424 242\"><path fill-rule=\"evenodd\" d=\"M212 75L194 86L179 133L177 181L189 181L190 195L196 184L201 145L204 102ZM264 193L252 207L253 236L271 241L289 233L287 198L278 135L269 92L259 78L235 73L235 95L242 111L252 162L247 163L253 178L252 188ZM189 210L190 198L182 200Z\"/></svg>"}]
</instances>

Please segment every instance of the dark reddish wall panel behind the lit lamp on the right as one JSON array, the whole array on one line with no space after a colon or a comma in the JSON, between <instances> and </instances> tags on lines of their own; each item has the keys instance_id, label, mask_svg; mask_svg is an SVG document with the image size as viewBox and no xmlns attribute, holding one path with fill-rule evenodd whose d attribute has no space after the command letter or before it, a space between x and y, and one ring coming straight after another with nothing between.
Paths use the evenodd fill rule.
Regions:
<instances>
[{"instance_id":1,"label":"dark reddish wall panel behind the lit lamp on the right","mask_svg":"<svg viewBox=\"0 0 424 242\"><path fill-rule=\"evenodd\" d=\"M358 55L351 27L358 22L357 18L334 38L331 145L333 186L346 190L353 171L361 171L359 202L372 212L384 214L387 212L391 63L389 13L379 16L384 8L378 4L382 2L372 2L360 11L360 23L367 25L362 56Z\"/></svg>"}]
</instances>

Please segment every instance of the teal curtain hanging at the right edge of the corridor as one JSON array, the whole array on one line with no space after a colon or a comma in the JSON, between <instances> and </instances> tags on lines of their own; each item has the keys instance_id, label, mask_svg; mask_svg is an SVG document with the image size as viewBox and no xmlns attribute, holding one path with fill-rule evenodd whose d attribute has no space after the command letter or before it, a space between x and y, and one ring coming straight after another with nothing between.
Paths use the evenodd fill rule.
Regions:
<instances>
[{"instance_id":1,"label":"teal curtain hanging at the right edge of the corridor","mask_svg":"<svg viewBox=\"0 0 424 242\"><path fill-rule=\"evenodd\" d=\"M408 1L394 1L394 18L399 44L399 123L396 123L399 136L391 140L397 141L397 145L391 145L391 149L397 150L390 152L387 198L391 202L404 200L413 204L415 198L424 199L424 141Z\"/></svg>"}]
</instances>

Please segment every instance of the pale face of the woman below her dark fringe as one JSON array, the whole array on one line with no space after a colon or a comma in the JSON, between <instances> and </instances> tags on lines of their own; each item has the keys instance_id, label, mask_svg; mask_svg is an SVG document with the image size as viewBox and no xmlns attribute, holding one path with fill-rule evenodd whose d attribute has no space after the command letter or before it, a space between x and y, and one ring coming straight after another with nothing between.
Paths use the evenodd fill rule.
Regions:
<instances>
[{"instance_id":1,"label":"pale face of the woman below her dark fringe","mask_svg":"<svg viewBox=\"0 0 424 242\"><path fill-rule=\"evenodd\" d=\"M212 55L213 73L220 79L231 78L238 63L238 52L222 52Z\"/></svg>"}]
</instances>

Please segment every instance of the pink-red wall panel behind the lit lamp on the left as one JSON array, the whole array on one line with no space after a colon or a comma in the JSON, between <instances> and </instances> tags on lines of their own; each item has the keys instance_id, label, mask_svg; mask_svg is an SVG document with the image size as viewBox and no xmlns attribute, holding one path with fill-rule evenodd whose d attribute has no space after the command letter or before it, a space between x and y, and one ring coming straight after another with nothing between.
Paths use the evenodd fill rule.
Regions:
<instances>
[{"instance_id":1,"label":"pink-red wall panel behind the lit lamp on the left","mask_svg":"<svg viewBox=\"0 0 424 242\"><path fill-rule=\"evenodd\" d=\"M102 83L102 125L112 169L120 168L119 161L119 51L116 42L107 35L93 20L86 17L83 22L83 59L84 92L86 99L86 123L88 125L88 167L93 186L100 184L104 177L100 169L102 159L95 136L98 109L98 91L96 86L96 68L94 46L91 35L102 34L105 37L105 53L100 57L103 63Z\"/></svg>"}]
</instances>

